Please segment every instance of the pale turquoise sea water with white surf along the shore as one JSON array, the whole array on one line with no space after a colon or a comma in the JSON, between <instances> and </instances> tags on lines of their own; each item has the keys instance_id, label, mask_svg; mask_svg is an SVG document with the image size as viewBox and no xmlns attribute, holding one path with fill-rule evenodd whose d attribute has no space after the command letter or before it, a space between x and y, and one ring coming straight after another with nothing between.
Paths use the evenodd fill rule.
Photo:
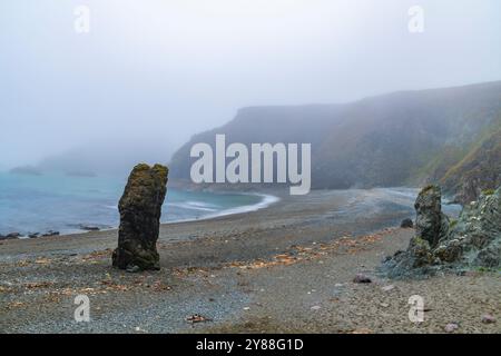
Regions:
<instances>
[{"instance_id":1,"label":"pale turquoise sea water with white surf along the shore","mask_svg":"<svg viewBox=\"0 0 501 356\"><path fill-rule=\"evenodd\" d=\"M0 234L80 231L80 225L117 227L126 177L41 176L0 172ZM167 189L161 221L254 210L269 202L256 195Z\"/></svg>"}]
</instances>

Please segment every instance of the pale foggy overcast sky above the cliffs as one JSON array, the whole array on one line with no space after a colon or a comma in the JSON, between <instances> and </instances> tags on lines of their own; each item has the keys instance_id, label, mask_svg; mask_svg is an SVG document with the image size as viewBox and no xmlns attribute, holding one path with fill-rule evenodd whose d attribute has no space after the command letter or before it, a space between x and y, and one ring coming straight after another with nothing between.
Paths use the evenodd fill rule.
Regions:
<instances>
[{"instance_id":1,"label":"pale foggy overcast sky above the cliffs","mask_svg":"<svg viewBox=\"0 0 501 356\"><path fill-rule=\"evenodd\" d=\"M0 169L105 140L178 146L244 106L500 80L500 43L499 0L2 0Z\"/></svg>"}]
</instances>

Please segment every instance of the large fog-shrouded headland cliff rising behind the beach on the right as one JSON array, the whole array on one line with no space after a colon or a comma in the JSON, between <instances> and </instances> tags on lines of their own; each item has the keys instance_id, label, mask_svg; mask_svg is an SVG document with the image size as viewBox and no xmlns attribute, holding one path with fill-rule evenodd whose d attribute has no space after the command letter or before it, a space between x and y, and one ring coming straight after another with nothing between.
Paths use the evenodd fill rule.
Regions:
<instances>
[{"instance_id":1,"label":"large fog-shrouded headland cliff rising behind the beach on the right","mask_svg":"<svg viewBox=\"0 0 501 356\"><path fill-rule=\"evenodd\" d=\"M189 179L191 146L225 134L227 144L312 144L313 188L441 182L466 201L499 186L500 118L501 81L346 105L245 108L193 137L174 155L170 171Z\"/></svg>"}]
</instances>

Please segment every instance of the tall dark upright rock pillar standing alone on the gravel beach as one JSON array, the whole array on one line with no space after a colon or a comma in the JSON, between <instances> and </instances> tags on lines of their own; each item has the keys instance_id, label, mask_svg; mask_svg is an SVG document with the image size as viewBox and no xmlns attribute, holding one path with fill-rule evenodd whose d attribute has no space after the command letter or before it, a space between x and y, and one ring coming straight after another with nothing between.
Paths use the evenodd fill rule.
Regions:
<instances>
[{"instance_id":1,"label":"tall dark upright rock pillar standing alone on the gravel beach","mask_svg":"<svg viewBox=\"0 0 501 356\"><path fill-rule=\"evenodd\" d=\"M118 204L120 227L118 247L112 254L115 267L128 271L160 269L156 244L167 176L168 168L161 165L140 164L130 172Z\"/></svg>"}]
</instances>

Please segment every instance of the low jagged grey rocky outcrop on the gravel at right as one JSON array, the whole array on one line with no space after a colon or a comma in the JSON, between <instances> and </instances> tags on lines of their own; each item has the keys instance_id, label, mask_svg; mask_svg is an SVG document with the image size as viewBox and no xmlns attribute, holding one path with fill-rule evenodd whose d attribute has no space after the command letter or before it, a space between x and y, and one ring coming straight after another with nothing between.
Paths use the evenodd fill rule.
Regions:
<instances>
[{"instance_id":1,"label":"low jagged grey rocky outcrop on the gravel at right","mask_svg":"<svg viewBox=\"0 0 501 356\"><path fill-rule=\"evenodd\" d=\"M444 268L501 266L501 188L483 192L450 220L440 206L440 188L424 188L415 202L416 234L405 251L383 261L391 277L433 274Z\"/></svg>"}]
</instances>

